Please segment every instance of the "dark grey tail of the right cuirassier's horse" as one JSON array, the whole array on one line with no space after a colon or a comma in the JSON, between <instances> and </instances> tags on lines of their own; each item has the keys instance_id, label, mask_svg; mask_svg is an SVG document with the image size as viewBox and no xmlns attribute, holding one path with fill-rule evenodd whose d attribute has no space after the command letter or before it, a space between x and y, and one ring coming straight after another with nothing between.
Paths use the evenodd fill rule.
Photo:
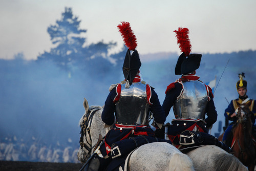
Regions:
<instances>
[{"instance_id":1,"label":"dark grey tail of the right cuirassier's horse","mask_svg":"<svg viewBox=\"0 0 256 171\"><path fill-rule=\"evenodd\" d=\"M231 154L221 153L215 157L216 170L219 171L248 171L248 169L239 161L238 158ZM228 164L227 164L228 163Z\"/></svg>"}]
</instances>

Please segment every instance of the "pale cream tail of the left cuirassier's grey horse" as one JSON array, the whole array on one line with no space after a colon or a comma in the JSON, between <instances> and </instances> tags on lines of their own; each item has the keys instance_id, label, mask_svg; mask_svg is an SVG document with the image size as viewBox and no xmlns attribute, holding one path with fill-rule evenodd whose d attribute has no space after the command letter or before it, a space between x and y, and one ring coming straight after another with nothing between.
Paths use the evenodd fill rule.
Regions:
<instances>
[{"instance_id":1,"label":"pale cream tail of the left cuirassier's grey horse","mask_svg":"<svg viewBox=\"0 0 256 171\"><path fill-rule=\"evenodd\" d=\"M183 153L174 153L169 162L170 171L193 171L192 160Z\"/></svg>"}]
</instances>

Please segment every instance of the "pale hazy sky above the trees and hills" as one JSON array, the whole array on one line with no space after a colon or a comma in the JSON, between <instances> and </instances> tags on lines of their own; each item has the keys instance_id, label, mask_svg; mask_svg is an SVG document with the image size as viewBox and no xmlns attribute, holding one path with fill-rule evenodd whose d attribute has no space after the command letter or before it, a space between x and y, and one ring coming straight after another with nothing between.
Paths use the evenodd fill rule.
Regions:
<instances>
[{"instance_id":1,"label":"pale hazy sky above the trees and hills","mask_svg":"<svg viewBox=\"0 0 256 171\"><path fill-rule=\"evenodd\" d=\"M87 43L115 41L117 30L130 22L140 54L180 52L174 30L187 27L192 53L256 50L256 0L1 0L0 58L23 52L27 59L53 48L47 28L61 18L65 7L81 20Z\"/></svg>"}]
</instances>

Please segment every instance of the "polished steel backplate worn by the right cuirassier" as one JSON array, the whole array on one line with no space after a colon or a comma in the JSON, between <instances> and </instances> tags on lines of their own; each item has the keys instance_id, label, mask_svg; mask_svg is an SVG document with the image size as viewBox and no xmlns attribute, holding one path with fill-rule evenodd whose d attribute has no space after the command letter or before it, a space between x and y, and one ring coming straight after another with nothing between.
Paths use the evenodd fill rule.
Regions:
<instances>
[{"instance_id":1,"label":"polished steel backplate worn by the right cuirassier","mask_svg":"<svg viewBox=\"0 0 256 171\"><path fill-rule=\"evenodd\" d=\"M208 98L204 83L188 81L183 86L183 94L173 106L176 119L205 119Z\"/></svg>"}]
</instances>

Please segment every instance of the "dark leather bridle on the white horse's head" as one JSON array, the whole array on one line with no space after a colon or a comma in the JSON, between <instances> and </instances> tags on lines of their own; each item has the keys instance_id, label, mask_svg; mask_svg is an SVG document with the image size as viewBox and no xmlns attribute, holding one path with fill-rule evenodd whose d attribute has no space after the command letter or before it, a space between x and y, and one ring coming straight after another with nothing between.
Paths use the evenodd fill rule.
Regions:
<instances>
[{"instance_id":1,"label":"dark leather bridle on the white horse's head","mask_svg":"<svg viewBox=\"0 0 256 171\"><path fill-rule=\"evenodd\" d=\"M85 160L89 154L91 154L91 151L92 151L92 145L88 142L88 138L86 136L86 134L89 135L89 138L90 138L90 141L92 142L92 138L91 138L91 133L90 133L90 130L91 130L91 124L92 124L92 119L93 119L93 116L94 114L99 111L100 108L99 107L95 107L95 108L92 108L89 110L89 112L86 114L86 115L83 115L83 120L82 120L82 124L80 125L81 127L81 131L80 131L80 147L82 149L82 158L83 160ZM83 137L86 137L85 141L86 143L83 142ZM85 156L84 155L84 151L83 151L83 147L87 149L88 153L87 155Z\"/></svg>"}]
</instances>

